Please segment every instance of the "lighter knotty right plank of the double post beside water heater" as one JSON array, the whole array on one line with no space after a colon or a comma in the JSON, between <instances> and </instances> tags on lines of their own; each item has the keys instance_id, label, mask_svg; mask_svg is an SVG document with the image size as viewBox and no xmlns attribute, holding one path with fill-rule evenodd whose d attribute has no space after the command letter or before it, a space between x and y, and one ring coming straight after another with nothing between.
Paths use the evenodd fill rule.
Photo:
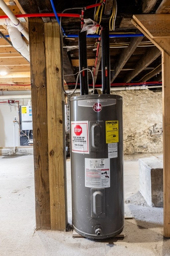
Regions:
<instances>
[{"instance_id":1,"label":"lighter knotty right plank of the double post beside water heater","mask_svg":"<svg viewBox=\"0 0 170 256\"><path fill-rule=\"evenodd\" d=\"M65 230L64 187L64 117L62 102L60 28L58 23L44 23L47 86L48 163L51 229ZM53 45L54 51L51 50Z\"/></svg>"}]
</instances>

